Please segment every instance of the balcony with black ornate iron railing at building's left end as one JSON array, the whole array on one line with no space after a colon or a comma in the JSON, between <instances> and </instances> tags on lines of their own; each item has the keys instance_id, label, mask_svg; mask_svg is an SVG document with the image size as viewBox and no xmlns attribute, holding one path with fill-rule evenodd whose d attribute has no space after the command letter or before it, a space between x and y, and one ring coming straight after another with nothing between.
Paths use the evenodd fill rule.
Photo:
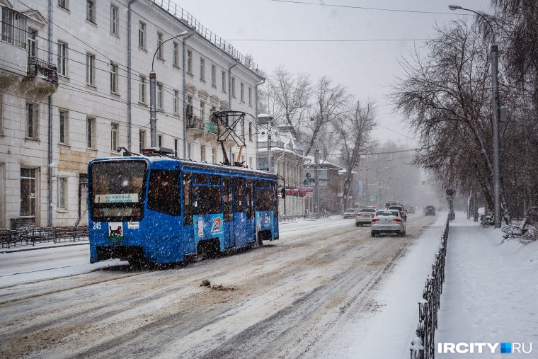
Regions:
<instances>
[{"instance_id":1,"label":"balcony with black ornate iron railing at building's left end","mask_svg":"<svg viewBox=\"0 0 538 359\"><path fill-rule=\"evenodd\" d=\"M58 87L58 72L55 64L37 57L28 57L26 76L23 79L25 91L40 96L54 93Z\"/></svg>"}]
</instances>

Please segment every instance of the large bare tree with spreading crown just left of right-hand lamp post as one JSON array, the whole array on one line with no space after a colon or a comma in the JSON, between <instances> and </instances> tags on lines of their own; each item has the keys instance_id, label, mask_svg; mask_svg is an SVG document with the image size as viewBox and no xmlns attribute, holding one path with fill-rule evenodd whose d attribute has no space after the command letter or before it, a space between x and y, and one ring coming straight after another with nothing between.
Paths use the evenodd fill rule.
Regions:
<instances>
[{"instance_id":1,"label":"large bare tree with spreading crown just left of right-hand lamp post","mask_svg":"<svg viewBox=\"0 0 538 359\"><path fill-rule=\"evenodd\" d=\"M406 76L396 82L392 98L420 134L415 163L435 171L445 186L470 186L474 178L493 207L488 50L464 21L436 31L426 55L416 49L411 61L401 62ZM501 200L510 222L504 193Z\"/></svg>"}]
</instances>

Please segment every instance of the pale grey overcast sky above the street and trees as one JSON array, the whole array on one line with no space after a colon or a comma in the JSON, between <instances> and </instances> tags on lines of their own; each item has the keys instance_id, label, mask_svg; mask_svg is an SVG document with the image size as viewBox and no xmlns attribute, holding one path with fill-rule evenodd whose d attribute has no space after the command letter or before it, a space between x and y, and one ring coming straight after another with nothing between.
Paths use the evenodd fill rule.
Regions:
<instances>
[{"instance_id":1,"label":"pale grey overcast sky above the street and trees","mask_svg":"<svg viewBox=\"0 0 538 359\"><path fill-rule=\"evenodd\" d=\"M386 98L395 76L401 74L397 60L408 56L414 45L442 25L464 17L465 11L450 11L457 4L488 11L489 0L172 0L190 12L202 25L230 40L243 55L270 74L284 65L291 72L306 72L316 81L328 76L345 85L357 98L374 98L379 108L374 137L391 139L408 148L415 137L392 113ZM311 4L298 4L298 3ZM337 5L337 6L331 6ZM355 6L340 7L340 6ZM365 8L404 11L384 11ZM427 11L433 13L411 13ZM470 18L470 16L469 16ZM387 40L398 41L387 41ZM263 40L374 40L285 42ZM386 128L384 128L386 127Z\"/></svg>"}]
</instances>

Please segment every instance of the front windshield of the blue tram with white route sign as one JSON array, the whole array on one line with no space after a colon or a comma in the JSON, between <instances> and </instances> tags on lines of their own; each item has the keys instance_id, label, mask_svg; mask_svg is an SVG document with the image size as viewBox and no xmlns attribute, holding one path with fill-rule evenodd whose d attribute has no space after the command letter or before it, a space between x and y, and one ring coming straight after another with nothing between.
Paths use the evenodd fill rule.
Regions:
<instances>
[{"instance_id":1,"label":"front windshield of the blue tram with white route sign","mask_svg":"<svg viewBox=\"0 0 538 359\"><path fill-rule=\"evenodd\" d=\"M94 162L90 168L92 220L141 220L146 173L145 161Z\"/></svg>"}]
</instances>

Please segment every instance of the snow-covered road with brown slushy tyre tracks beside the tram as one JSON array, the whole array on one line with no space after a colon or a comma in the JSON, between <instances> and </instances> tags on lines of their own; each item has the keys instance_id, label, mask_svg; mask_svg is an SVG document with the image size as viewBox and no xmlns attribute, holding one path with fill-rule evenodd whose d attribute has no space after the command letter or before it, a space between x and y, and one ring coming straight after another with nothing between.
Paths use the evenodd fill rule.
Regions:
<instances>
[{"instance_id":1,"label":"snow-covered road with brown slushy tyre tracks beside the tram","mask_svg":"<svg viewBox=\"0 0 538 359\"><path fill-rule=\"evenodd\" d=\"M0 357L311 356L348 313L377 311L434 221L411 216L404 239L340 218L282 224L279 241L168 270L88 264L87 246L0 254Z\"/></svg>"}]
</instances>

